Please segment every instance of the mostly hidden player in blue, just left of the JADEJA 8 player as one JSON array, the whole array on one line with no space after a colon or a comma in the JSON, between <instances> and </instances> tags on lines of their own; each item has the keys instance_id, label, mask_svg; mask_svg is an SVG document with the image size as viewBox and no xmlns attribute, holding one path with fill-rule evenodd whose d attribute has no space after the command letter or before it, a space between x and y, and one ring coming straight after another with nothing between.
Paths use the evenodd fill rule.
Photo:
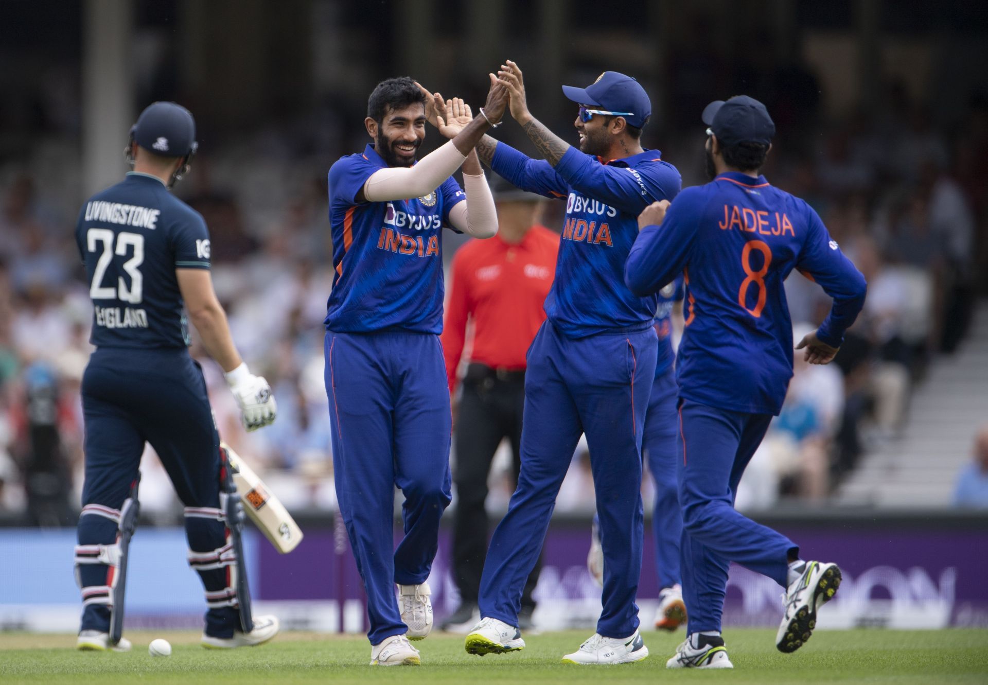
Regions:
<instances>
[{"instance_id":1,"label":"mostly hidden player in blue, just left of the JADEJA 8 player","mask_svg":"<svg viewBox=\"0 0 988 685\"><path fill-rule=\"evenodd\" d=\"M683 279L677 278L657 294L655 333L659 338L655 363L655 380L645 412L645 433L641 450L648 463L655 485L652 506L652 536L655 539L655 568L659 576L659 606L655 612L655 627L673 632L686 623L680 574L680 538L683 535L683 513L679 505L676 478L676 439L679 416L676 413L676 372L673 360L673 308L683 300ZM679 314L677 314L679 316ZM680 321L682 317L680 316ZM587 569L598 584L604 584L604 551L601 546L600 520L594 515Z\"/></svg>"}]
</instances>

